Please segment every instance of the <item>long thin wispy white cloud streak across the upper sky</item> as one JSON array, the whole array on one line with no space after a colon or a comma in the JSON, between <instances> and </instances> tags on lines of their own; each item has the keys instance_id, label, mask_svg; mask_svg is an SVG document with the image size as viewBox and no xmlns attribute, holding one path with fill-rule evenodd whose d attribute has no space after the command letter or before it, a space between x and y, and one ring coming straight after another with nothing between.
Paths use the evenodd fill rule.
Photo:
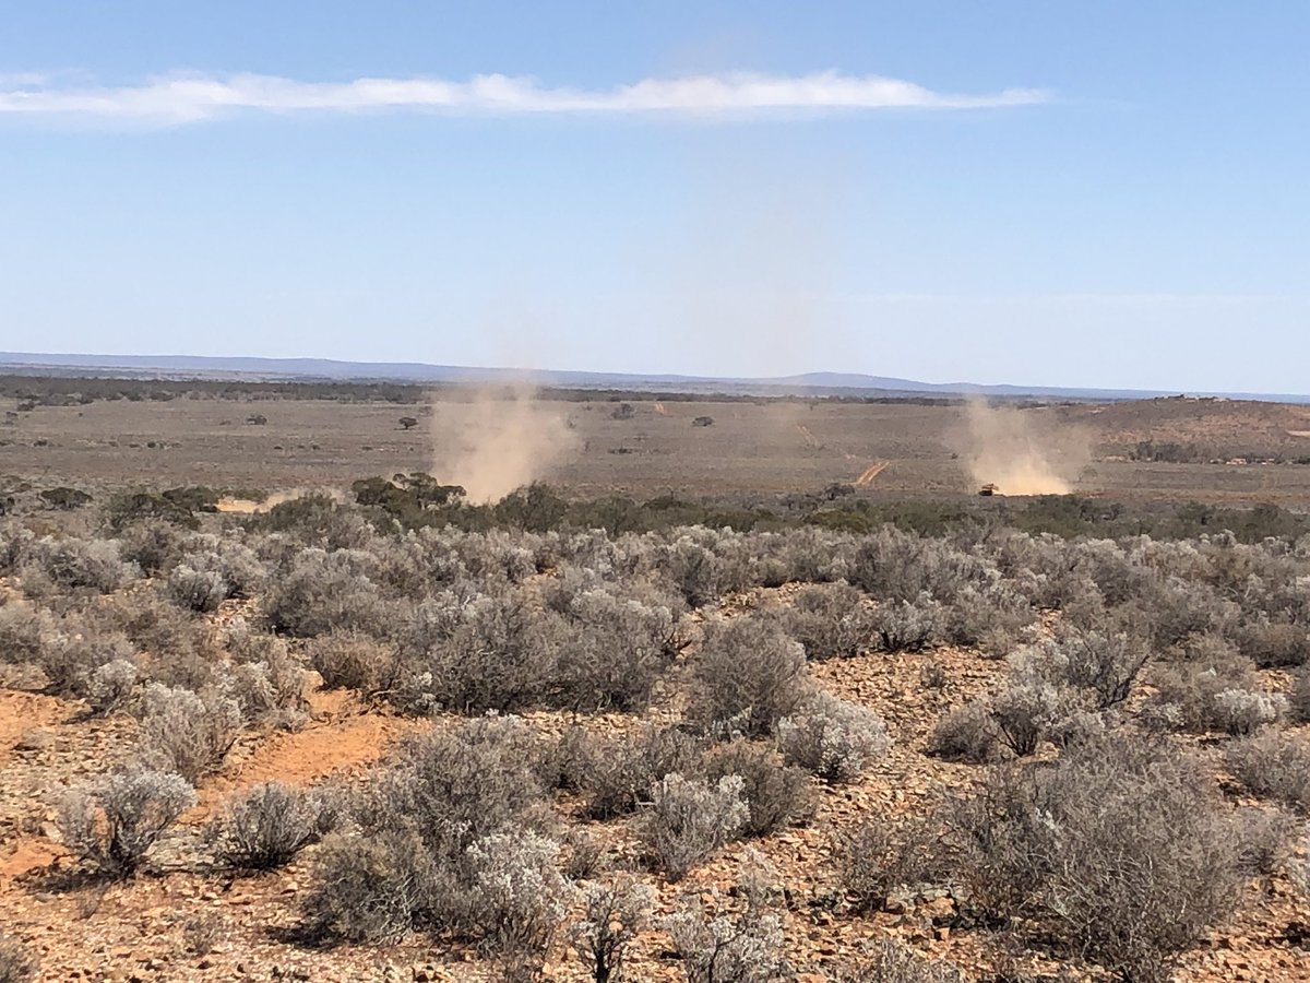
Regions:
<instances>
[{"instance_id":1,"label":"long thin wispy white cloud streak across the upper sky","mask_svg":"<svg viewBox=\"0 0 1310 983\"><path fill-rule=\"evenodd\" d=\"M1040 89L955 94L900 79L837 72L643 79L612 89L550 88L533 79L506 75L478 75L469 81L418 77L348 83L297 81L271 75L174 75L123 87L60 87L39 76L26 80L0 76L0 115L84 117L156 125L242 111L724 117L777 111L997 109L1048 100L1048 93Z\"/></svg>"}]
</instances>

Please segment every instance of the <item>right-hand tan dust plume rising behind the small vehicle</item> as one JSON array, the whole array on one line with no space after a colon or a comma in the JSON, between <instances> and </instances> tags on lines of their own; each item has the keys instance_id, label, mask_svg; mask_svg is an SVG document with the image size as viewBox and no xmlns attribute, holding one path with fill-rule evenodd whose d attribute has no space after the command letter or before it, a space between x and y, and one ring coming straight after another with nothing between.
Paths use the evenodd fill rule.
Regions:
<instances>
[{"instance_id":1,"label":"right-hand tan dust plume rising behind the small vehicle","mask_svg":"<svg viewBox=\"0 0 1310 983\"><path fill-rule=\"evenodd\" d=\"M965 430L952 442L976 486L1006 495L1064 495L1091 456L1086 434L1060 427L1043 410L969 400Z\"/></svg>"}]
</instances>

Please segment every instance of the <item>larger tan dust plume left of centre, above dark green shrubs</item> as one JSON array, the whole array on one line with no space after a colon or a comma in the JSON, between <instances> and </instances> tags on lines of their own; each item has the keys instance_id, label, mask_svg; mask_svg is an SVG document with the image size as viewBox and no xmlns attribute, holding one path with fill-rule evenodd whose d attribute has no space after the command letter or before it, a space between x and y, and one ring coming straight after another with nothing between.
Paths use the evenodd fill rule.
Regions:
<instances>
[{"instance_id":1,"label":"larger tan dust plume left of centre, above dark green shrubs","mask_svg":"<svg viewBox=\"0 0 1310 983\"><path fill-rule=\"evenodd\" d=\"M431 421L432 476L478 505L548 477L576 444L563 412L529 383L443 397Z\"/></svg>"}]
</instances>

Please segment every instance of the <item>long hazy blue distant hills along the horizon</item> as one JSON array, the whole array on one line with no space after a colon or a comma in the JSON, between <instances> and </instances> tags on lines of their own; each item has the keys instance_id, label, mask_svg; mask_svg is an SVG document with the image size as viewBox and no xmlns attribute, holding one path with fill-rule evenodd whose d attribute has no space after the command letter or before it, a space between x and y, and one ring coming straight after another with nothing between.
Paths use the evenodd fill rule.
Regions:
<instances>
[{"instance_id":1,"label":"long hazy blue distant hills along the horizon","mask_svg":"<svg viewBox=\"0 0 1310 983\"><path fill-rule=\"evenodd\" d=\"M0 351L0 372L42 375L127 375L134 377L381 380L405 383L531 381L580 389L663 389L689 393L747 393L798 396L992 396L1055 400L1140 400L1182 393L1146 389L1079 389L1051 385L984 385L979 383L921 383L913 379L857 372L807 372L764 379L686 375L635 375L559 370L435 366L424 362L338 362L325 358L223 358L210 355L56 355ZM1310 395L1187 393L1277 402L1310 402Z\"/></svg>"}]
</instances>

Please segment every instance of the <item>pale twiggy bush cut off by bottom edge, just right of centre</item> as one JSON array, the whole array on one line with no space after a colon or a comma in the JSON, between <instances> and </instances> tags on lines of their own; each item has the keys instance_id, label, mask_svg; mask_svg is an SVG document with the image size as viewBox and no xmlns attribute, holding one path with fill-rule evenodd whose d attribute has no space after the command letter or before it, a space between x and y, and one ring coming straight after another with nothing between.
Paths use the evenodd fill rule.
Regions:
<instances>
[{"instance_id":1,"label":"pale twiggy bush cut off by bottom edge, just right of centre","mask_svg":"<svg viewBox=\"0 0 1310 983\"><path fill-rule=\"evenodd\" d=\"M664 928L686 983L776 983L791 975L782 954L782 919L755 900L736 916L707 917L701 899L688 896Z\"/></svg>"}]
</instances>

